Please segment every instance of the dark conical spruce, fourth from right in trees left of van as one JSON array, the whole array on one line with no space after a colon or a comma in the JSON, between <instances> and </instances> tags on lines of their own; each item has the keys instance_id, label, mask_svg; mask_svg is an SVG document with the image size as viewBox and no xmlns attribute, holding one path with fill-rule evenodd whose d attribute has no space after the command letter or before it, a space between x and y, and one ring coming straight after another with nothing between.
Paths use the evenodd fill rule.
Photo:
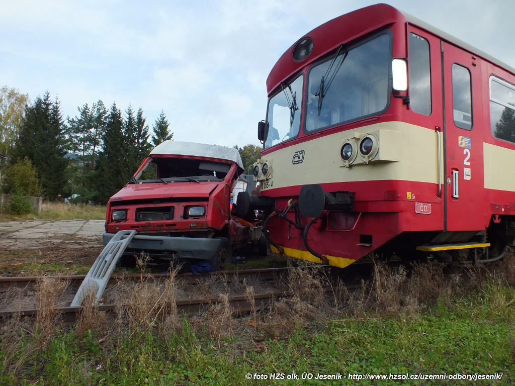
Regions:
<instances>
[{"instance_id":1,"label":"dark conical spruce, fourth from right in trees left of van","mask_svg":"<svg viewBox=\"0 0 515 386\"><path fill-rule=\"evenodd\" d=\"M98 156L95 168L94 199L102 204L127 182L127 149L121 111L113 103L106 118L103 136L104 148Z\"/></svg>"}]
</instances>

